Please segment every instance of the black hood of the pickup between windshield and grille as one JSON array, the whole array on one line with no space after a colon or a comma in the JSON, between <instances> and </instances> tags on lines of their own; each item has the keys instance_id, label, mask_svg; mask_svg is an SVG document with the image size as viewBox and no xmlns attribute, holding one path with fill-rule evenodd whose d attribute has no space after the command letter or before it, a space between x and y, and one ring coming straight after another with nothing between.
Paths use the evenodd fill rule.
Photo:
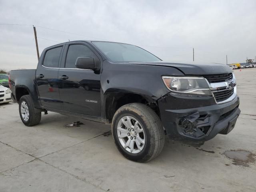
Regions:
<instances>
[{"instance_id":1,"label":"black hood of the pickup between windshield and grille","mask_svg":"<svg viewBox=\"0 0 256 192\"><path fill-rule=\"evenodd\" d=\"M126 63L127 64L127 63ZM128 64L166 66L177 68L185 75L207 75L207 74L224 74L231 73L232 70L228 65L215 63L198 63L198 62L129 62Z\"/></svg>"}]
</instances>

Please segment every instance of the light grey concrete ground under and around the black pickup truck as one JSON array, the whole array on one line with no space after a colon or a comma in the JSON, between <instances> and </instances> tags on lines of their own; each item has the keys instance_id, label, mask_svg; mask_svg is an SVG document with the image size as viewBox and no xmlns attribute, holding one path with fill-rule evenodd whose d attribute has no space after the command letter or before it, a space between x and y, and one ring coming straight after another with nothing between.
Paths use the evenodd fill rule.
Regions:
<instances>
[{"instance_id":1,"label":"light grey concrete ground under and around the black pickup truck","mask_svg":"<svg viewBox=\"0 0 256 192\"><path fill-rule=\"evenodd\" d=\"M241 109L234 130L199 149L166 138L148 163L124 158L108 125L49 112L26 127L17 104L0 105L0 192L255 192L255 162L237 166L224 155L256 153L256 68L234 72ZM84 125L64 126L74 121Z\"/></svg>"}]
</instances>

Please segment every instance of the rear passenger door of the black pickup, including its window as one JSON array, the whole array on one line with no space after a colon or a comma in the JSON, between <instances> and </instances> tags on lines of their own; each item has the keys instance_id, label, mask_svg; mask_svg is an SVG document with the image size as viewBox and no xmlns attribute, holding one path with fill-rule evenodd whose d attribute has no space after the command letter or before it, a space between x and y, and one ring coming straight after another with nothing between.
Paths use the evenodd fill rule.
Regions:
<instances>
[{"instance_id":1,"label":"rear passenger door of the black pickup, including its window","mask_svg":"<svg viewBox=\"0 0 256 192\"><path fill-rule=\"evenodd\" d=\"M63 45L50 48L42 53L43 60L36 70L36 84L41 105L60 109L58 70L61 61Z\"/></svg>"}]
</instances>

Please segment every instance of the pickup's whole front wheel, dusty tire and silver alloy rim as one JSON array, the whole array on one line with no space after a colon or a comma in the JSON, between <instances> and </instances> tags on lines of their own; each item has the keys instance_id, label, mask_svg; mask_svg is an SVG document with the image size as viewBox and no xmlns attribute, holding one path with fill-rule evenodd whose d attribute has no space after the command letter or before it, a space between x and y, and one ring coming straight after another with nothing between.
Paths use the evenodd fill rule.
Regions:
<instances>
[{"instance_id":1,"label":"pickup's whole front wheel, dusty tire and silver alloy rim","mask_svg":"<svg viewBox=\"0 0 256 192\"><path fill-rule=\"evenodd\" d=\"M118 150L137 162L152 160L164 146L160 118L150 107L140 103L126 104L116 111L112 135Z\"/></svg>"}]
</instances>

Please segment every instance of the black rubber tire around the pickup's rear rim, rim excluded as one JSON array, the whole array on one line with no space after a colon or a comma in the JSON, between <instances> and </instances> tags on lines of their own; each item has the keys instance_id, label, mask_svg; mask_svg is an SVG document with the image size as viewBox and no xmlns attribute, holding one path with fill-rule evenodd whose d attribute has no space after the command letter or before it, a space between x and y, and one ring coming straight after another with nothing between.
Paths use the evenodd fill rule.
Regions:
<instances>
[{"instance_id":1,"label":"black rubber tire around the pickup's rear rim, rim excluded","mask_svg":"<svg viewBox=\"0 0 256 192\"><path fill-rule=\"evenodd\" d=\"M25 121L23 119L22 113L21 113L21 104L22 104L23 101L25 101L27 106L28 106L29 118L28 118L27 121ZM33 101L32 101L32 99L29 95L24 95L20 98L19 112L20 112L20 118L21 118L22 122L24 123L24 125L26 125L26 126L37 125L41 120L41 112L39 112L39 113L35 112Z\"/></svg>"}]
</instances>

